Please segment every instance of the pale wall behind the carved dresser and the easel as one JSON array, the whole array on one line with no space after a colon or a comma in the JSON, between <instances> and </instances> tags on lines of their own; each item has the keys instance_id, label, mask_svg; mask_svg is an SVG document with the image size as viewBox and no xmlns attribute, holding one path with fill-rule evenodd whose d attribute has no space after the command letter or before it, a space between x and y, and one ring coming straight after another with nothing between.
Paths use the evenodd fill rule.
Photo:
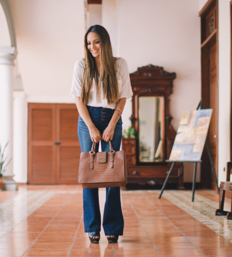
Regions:
<instances>
[{"instance_id":1,"label":"pale wall behind the carved dresser and the easel","mask_svg":"<svg viewBox=\"0 0 232 257\"><path fill-rule=\"evenodd\" d=\"M177 74L169 103L174 129L182 113L194 110L200 100L198 11L195 0L118 0L118 55L127 60L129 71L151 63ZM192 173L193 165L185 164L185 182L192 181Z\"/></svg>"}]
</instances>

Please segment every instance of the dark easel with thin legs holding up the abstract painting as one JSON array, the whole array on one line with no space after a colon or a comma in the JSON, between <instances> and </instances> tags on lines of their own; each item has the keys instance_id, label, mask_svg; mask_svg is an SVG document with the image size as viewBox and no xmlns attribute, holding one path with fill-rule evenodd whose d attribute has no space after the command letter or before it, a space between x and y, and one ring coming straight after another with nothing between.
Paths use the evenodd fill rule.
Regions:
<instances>
[{"instance_id":1,"label":"dark easel with thin legs holding up the abstract painting","mask_svg":"<svg viewBox=\"0 0 232 257\"><path fill-rule=\"evenodd\" d=\"M200 110L200 109L201 109L201 105L202 105L202 99L200 100L200 102L199 102L199 104L198 104L196 110ZM211 167L212 167L212 169L213 169L213 174L214 174L214 178L215 178L215 182L216 182L216 185L217 185L217 188L218 188L218 194L219 194L218 179L217 179L216 171L215 171L214 164L213 164L212 155L211 155L211 152L210 152L210 149L209 149L209 144L208 144L207 140L205 140L205 146L206 146L206 149L207 149L207 152L208 152L210 165L211 165ZM173 162L173 161L169 161L169 160L166 160L166 162L172 162L172 165L171 165L170 170L168 171L168 174L167 174L167 176L166 176L166 178L165 178L165 181L164 181L164 183L163 183L163 186L162 186L162 188L161 188L161 192L160 192L159 197L158 197L159 199L161 198L162 193L163 193L164 189L166 188L168 179L169 179L169 177L170 177L170 175L171 175L171 173L172 173L172 170L173 170L173 168L174 168L176 162L181 162L181 163L183 163L183 162L193 163L192 161L176 161L176 162ZM197 163L201 163L201 160L198 161L198 162L194 162L194 169L193 169L193 189L192 189L192 191L193 191L193 196L192 196L192 202L194 202L195 180L196 180L196 166L197 166Z\"/></svg>"}]
</instances>

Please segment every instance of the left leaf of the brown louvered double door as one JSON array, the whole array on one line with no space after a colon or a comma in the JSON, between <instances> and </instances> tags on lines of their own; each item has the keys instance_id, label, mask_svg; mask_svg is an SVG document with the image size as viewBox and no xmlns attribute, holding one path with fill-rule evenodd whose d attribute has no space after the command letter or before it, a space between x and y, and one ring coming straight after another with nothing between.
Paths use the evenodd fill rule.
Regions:
<instances>
[{"instance_id":1,"label":"left leaf of the brown louvered double door","mask_svg":"<svg viewBox=\"0 0 232 257\"><path fill-rule=\"evenodd\" d=\"M55 158L55 105L28 105L28 182L54 184Z\"/></svg>"}]
</instances>

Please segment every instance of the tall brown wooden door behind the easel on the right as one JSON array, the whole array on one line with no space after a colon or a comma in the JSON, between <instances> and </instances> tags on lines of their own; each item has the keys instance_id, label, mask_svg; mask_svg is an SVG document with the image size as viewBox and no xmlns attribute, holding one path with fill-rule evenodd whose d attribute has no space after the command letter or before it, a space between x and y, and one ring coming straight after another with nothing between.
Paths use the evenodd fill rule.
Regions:
<instances>
[{"instance_id":1,"label":"tall brown wooden door behind the easel on the right","mask_svg":"<svg viewBox=\"0 0 232 257\"><path fill-rule=\"evenodd\" d=\"M229 7L229 6L228 6ZM202 109L212 108L207 141L218 174L218 0L208 0L199 13L201 21ZM217 189L206 149L202 154L201 186Z\"/></svg>"}]
</instances>

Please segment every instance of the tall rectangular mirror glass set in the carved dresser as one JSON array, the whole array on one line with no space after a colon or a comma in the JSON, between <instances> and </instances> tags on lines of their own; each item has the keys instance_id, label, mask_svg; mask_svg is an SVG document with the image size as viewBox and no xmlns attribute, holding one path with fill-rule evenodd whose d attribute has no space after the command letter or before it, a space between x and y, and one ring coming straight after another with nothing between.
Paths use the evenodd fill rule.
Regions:
<instances>
[{"instance_id":1,"label":"tall rectangular mirror glass set in the carved dresser","mask_svg":"<svg viewBox=\"0 0 232 257\"><path fill-rule=\"evenodd\" d=\"M164 97L138 97L139 162L164 161Z\"/></svg>"}]
</instances>

